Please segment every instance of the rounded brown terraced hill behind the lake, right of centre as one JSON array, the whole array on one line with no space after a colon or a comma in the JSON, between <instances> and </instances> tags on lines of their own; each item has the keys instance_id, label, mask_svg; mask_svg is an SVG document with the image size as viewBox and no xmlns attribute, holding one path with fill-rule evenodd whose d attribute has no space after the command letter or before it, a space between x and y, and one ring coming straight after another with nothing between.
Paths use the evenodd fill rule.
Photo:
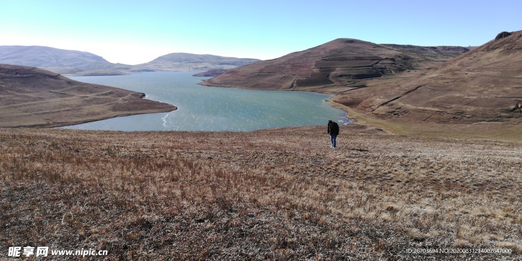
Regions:
<instances>
[{"instance_id":1,"label":"rounded brown terraced hill behind the lake, right of centre","mask_svg":"<svg viewBox=\"0 0 522 261\"><path fill-rule=\"evenodd\" d=\"M400 72L431 68L469 51L461 47L421 47L336 39L275 60L260 61L209 79L208 86L339 93L386 80Z\"/></svg>"}]
</instances>

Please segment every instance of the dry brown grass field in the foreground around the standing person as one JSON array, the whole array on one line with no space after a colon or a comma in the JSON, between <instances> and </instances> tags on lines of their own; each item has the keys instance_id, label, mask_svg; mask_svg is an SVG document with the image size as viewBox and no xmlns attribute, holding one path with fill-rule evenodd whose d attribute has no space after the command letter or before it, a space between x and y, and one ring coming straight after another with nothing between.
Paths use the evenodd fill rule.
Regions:
<instances>
[{"instance_id":1,"label":"dry brown grass field in the foreground around the standing person","mask_svg":"<svg viewBox=\"0 0 522 261\"><path fill-rule=\"evenodd\" d=\"M0 259L522 258L522 142L325 131L0 128Z\"/></svg>"}]
</instances>

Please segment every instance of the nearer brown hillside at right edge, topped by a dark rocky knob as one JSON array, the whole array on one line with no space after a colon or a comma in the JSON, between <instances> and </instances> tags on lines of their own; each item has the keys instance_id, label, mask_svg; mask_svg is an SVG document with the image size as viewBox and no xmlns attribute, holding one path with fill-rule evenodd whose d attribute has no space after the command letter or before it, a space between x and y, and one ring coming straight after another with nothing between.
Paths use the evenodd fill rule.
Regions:
<instances>
[{"instance_id":1,"label":"nearer brown hillside at right edge, topped by a dark rocky knob","mask_svg":"<svg viewBox=\"0 0 522 261\"><path fill-rule=\"evenodd\" d=\"M522 31L492 40L420 77L395 84L378 82L334 101L403 122L519 125Z\"/></svg>"}]
</instances>

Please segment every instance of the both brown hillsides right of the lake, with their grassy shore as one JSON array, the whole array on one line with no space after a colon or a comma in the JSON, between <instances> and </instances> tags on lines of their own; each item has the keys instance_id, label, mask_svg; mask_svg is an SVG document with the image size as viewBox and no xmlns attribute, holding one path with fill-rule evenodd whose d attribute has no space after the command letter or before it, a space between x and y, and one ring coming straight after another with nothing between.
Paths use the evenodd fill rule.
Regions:
<instances>
[{"instance_id":1,"label":"both brown hillsides right of the lake, with their grassy shore","mask_svg":"<svg viewBox=\"0 0 522 261\"><path fill-rule=\"evenodd\" d=\"M521 139L521 35L472 50L336 39L202 85L333 93L350 118L395 133Z\"/></svg>"}]
</instances>

